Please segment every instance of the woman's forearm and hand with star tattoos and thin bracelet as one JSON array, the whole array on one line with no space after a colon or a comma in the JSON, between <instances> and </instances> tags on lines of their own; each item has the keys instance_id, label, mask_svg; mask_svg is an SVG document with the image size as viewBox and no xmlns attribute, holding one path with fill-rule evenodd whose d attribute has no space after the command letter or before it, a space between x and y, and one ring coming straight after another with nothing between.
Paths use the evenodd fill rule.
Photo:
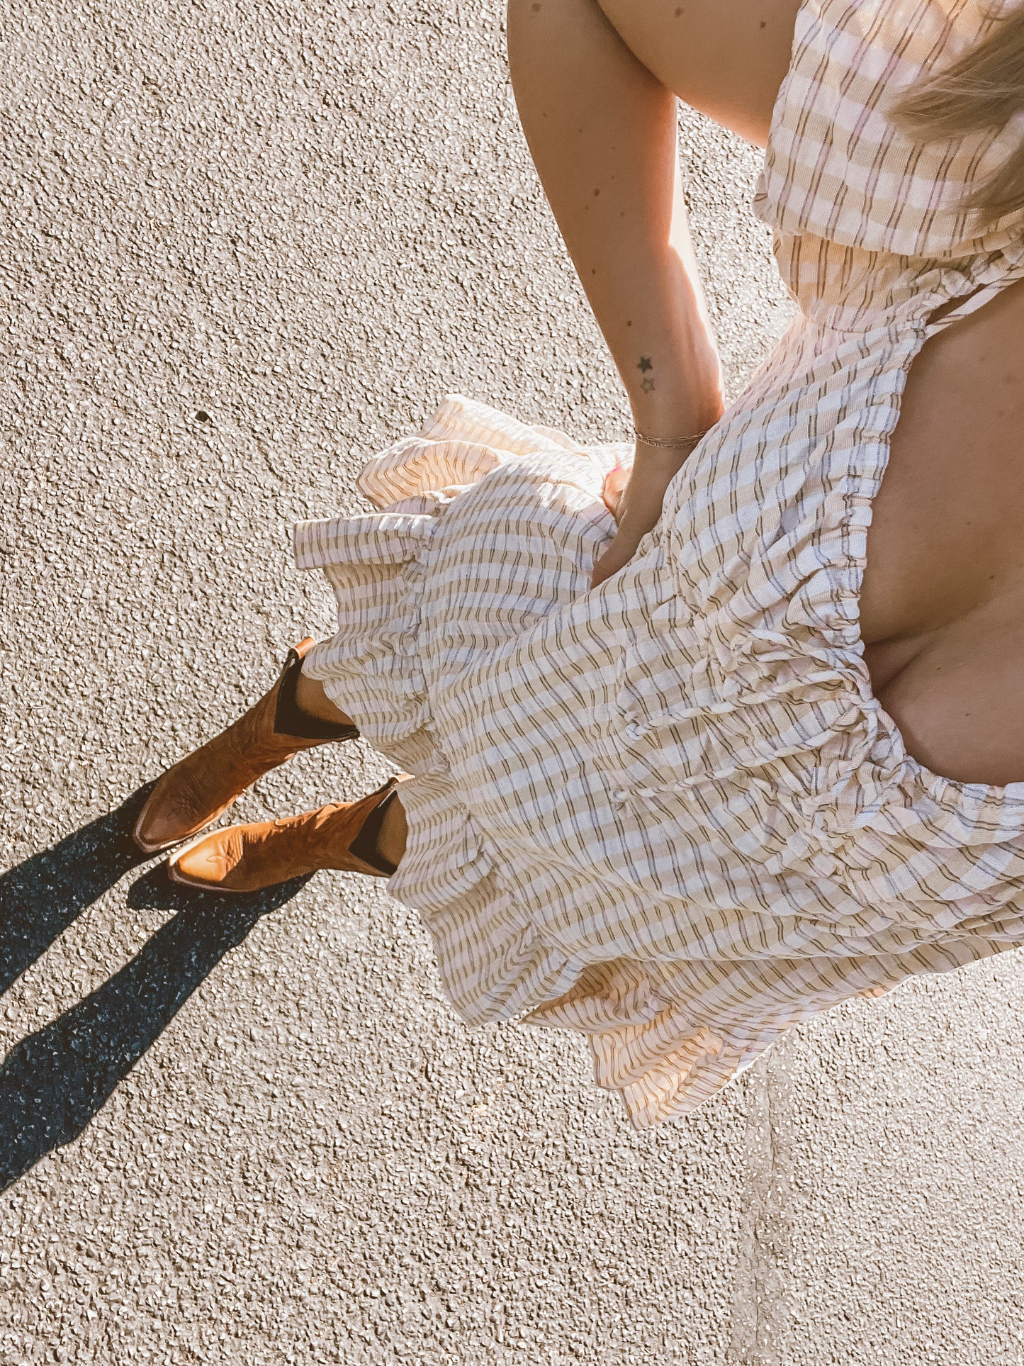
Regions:
<instances>
[{"instance_id":1,"label":"woman's forearm and hand with star tattoos and thin bracelet","mask_svg":"<svg viewBox=\"0 0 1024 1366\"><path fill-rule=\"evenodd\" d=\"M721 369L679 182L674 94L597 0L512 0L508 45L534 163L636 429L659 438L705 430L722 413ZM595 583L654 526L685 454L638 443Z\"/></svg>"}]
</instances>

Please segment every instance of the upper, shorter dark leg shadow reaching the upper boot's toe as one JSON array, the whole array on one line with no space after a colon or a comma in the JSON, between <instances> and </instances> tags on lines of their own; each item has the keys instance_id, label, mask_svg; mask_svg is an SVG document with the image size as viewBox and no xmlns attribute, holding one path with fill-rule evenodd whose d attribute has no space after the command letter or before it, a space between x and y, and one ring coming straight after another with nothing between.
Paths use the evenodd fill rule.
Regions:
<instances>
[{"instance_id":1,"label":"upper, shorter dark leg shadow reaching the upper boot's toe","mask_svg":"<svg viewBox=\"0 0 1024 1366\"><path fill-rule=\"evenodd\" d=\"M0 876L0 994L124 874L149 862L131 839L141 787L115 811Z\"/></svg>"}]
</instances>

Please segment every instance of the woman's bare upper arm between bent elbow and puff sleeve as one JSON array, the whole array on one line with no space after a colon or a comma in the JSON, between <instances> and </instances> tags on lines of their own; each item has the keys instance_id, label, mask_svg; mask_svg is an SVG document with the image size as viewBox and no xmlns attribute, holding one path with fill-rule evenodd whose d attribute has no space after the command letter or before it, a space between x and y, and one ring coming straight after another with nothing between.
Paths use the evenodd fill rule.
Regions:
<instances>
[{"instance_id":1,"label":"woman's bare upper arm between bent elbow and puff sleeve","mask_svg":"<svg viewBox=\"0 0 1024 1366\"><path fill-rule=\"evenodd\" d=\"M680 100L767 143L800 0L598 3L625 45Z\"/></svg>"}]
</instances>

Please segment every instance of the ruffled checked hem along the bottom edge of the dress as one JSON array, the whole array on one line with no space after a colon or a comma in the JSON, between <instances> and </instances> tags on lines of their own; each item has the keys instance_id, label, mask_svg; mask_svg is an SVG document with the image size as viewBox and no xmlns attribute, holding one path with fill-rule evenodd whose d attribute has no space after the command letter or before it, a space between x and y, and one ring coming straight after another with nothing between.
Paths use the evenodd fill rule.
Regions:
<instances>
[{"instance_id":1,"label":"ruffled checked hem along the bottom edge of the dress","mask_svg":"<svg viewBox=\"0 0 1024 1366\"><path fill-rule=\"evenodd\" d=\"M620 1091L643 1126L699 1104L696 1093L680 1102L681 1079L698 1063L706 1068L721 1041L706 1029L680 1033L679 1022L658 1018L642 964L588 966L538 929L528 903L501 876L507 855L493 850L452 777L433 723L421 641L434 535L460 494L512 466L527 479L558 484L575 504L568 510L573 535L565 535L567 510L557 510L560 555L550 525L539 527L542 559L561 560L541 566L527 593L546 613L586 590L613 531L599 501L603 478L631 459L632 445L580 447L560 432L449 395L422 433L363 469L359 488L384 511L300 523L295 559L325 574L339 609L337 634L310 652L306 672L324 682L377 750L415 775L401 788L408 840L389 891L421 914L453 1007L474 1026L520 1019L586 1033L598 1085ZM509 504L509 515L516 511L522 560L522 505ZM507 594L489 624L490 645L520 634L520 613ZM718 1053L706 1094L741 1061L735 1048Z\"/></svg>"}]
</instances>

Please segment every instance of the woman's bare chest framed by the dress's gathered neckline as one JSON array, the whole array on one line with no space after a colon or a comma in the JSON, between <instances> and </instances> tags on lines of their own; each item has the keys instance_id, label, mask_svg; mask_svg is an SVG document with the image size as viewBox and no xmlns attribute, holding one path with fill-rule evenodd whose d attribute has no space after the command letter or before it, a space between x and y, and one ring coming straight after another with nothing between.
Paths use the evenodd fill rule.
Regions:
<instances>
[{"instance_id":1,"label":"woman's bare chest framed by the dress's gathered neckline","mask_svg":"<svg viewBox=\"0 0 1024 1366\"><path fill-rule=\"evenodd\" d=\"M911 369L860 628L915 758L960 781L1024 780L1024 281Z\"/></svg>"}]
</instances>

